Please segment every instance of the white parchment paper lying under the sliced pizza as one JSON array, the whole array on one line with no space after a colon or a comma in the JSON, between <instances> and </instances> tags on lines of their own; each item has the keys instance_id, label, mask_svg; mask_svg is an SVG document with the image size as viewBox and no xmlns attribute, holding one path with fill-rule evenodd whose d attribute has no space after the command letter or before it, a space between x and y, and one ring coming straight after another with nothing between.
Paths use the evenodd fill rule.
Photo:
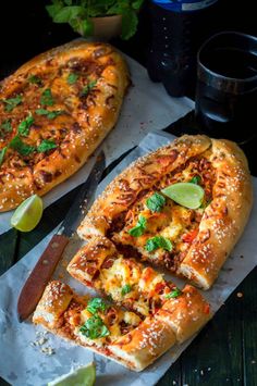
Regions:
<instances>
[{"instance_id":1,"label":"white parchment paper lying under the sliced pizza","mask_svg":"<svg viewBox=\"0 0 257 386\"><path fill-rule=\"evenodd\" d=\"M99 185L98 192L132 161L159 146L166 145L173 138L173 136L161 132L149 133L139 144L139 147L130 153ZM257 178L253 178L253 183L255 204L246 229L232 256L221 270L220 276L212 289L204 292L204 296L211 303L213 311L217 311L224 303L229 295L257 263ZM156 363L142 373L128 371L111 360L95 354L85 348L73 346L51 334L47 335L48 340L44 345L33 346L33 341L38 339L38 335L36 334L44 329L34 326L30 321L22 324L17 322L16 301L29 271L35 265L53 233L49 234L17 264L0 277L0 375L14 386L42 386L48 381L68 373L71 368L76 368L95 360L97 364L97 386L155 385L193 338L182 346L175 346L170 349ZM68 246L64 260L59 264L54 276L56 278L63 277L62 279L78 292L85 294L87 288L65 274L64 270L65 263L71 260L81 242L77 238L74 238ZM167 276L171 278L170 275ZM183 281L174 277L172 279L178 285L183 286ZM50 357L40 351L41 348L48 346L52 347L56 351Z\"/></svg>"}]
</instances>

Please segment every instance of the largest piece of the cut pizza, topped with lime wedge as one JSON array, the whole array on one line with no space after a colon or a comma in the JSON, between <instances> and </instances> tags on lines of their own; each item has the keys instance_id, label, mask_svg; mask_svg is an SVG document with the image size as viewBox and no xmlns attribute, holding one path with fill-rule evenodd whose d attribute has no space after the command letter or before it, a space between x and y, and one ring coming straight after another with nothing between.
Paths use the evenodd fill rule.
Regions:
<instances>
[{"instance_id":1,"label":"largest piece of the cut pizza, topped with lime wedge","mask_svg":"<svg viewBox=\"0 0 257 386\"><path fill-rule=\"evenodd\" d=\"M166 194L181 184L187 201L195 201L192 185L197 185L198 206ZM106 236L123 256L164 266L208 289L240 238L252 203L242 150L228 140L185 135L114 178L95 201L78 235Z\"/></svg>"}]
</instances>

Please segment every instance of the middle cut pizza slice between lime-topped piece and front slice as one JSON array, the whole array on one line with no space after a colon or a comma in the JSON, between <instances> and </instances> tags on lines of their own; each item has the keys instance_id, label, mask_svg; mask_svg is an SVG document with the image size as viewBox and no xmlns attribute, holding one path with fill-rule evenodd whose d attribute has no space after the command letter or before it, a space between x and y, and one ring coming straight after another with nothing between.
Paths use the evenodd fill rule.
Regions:
<instances>
[{"instance_id":1,"label":"middle cut pizza slice between lime-topped piece and front slice","mask_svg":"<svg viewBox=\"0 0 257 386\"><path fill-rule=\"evenodd\" d=\"M102 236L95 237L78 250L68 265L68 272L140 317L155 315L166 303L181 303L186 297L173 283L166 281L163 274L133 258L124 258ZM192 286L187 286L187 290L197 294ZM187 309L187 316L184 317L187 331L198 331L210 317L209 306L199 299ZM199 303L201 307L198 310Z\"/></svg>"}]
</instances>

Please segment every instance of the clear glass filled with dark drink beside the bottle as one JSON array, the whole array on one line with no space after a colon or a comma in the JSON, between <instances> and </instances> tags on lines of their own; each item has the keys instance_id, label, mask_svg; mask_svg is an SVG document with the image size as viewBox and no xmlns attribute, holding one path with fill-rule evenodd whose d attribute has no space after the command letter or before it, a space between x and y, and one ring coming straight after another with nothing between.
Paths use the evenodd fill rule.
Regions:
<instances>
[{"instance_id":1,"label":"clear glass filled with dark drink beside the bottle","mask_svg":"<svg viewBox=\"0 0 257 386\"><path fill-rule=\"evenodd\" d=\"M196 120L206 134L247 142L257 134L257 37L223 32L197 53Z\"/></svg>"}]
</instances>

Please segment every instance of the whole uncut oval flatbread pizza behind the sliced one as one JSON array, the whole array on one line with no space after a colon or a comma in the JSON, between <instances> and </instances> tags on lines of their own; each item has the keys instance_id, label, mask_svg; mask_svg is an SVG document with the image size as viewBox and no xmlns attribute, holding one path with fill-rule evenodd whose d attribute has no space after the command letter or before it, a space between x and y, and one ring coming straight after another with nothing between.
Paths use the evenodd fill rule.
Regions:
<instances>
[{"instance_id":1,"label":"whole uncut oval flatbread pizza behind the sliced one","mask_svg":"<svg viewBox=\"0 0 257 386\"><path fill-rule=\"evenodd\" d=\"M70 85L70 73L79 74L76 84ZM30 84L37 76L41 85ZM88 95L82 90L97 80ZM45 195L76 172L114 126L128 73L121 55L107 43L75 41L45 52L20 67L1 83L1 122L11 120L12 133L0 135L0 150L9 146L17 134L19 124L29 114L34 124L22 140L38 147L42 139L53 139L57 148L48 152L22 157L8 148L0 165L0 212L20 204L33 194ZM40 96L51 89L54 105L40 105ZM21 95L22 103L11 112L5 100ZM62 111L56 119L37 115L36 110ZM1 133L0 133L1 134Z\"/></svg>"}]
</instances>

